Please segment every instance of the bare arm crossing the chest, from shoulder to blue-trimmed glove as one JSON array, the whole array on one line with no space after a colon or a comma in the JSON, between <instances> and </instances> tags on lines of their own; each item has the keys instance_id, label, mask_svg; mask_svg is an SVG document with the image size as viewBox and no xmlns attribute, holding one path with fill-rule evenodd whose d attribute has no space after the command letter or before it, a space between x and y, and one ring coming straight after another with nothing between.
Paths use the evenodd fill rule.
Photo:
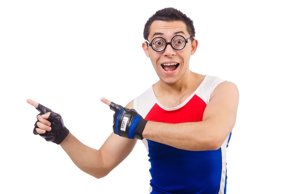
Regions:
<instances>
[{"instance_id":1,"label":"bare arm crossing the chest, from shoulder to blue-trimmed glove","mask_svg":"<svg viewBox=\"0 0 294 194\"><path fill-rule=\"evenodd\" d=\"M183 150L217 150L235 126L238 104L237 86L223 82L214 89L201 122L167 124L148 121L143 137Z\"/></svg>"}]
</instances>

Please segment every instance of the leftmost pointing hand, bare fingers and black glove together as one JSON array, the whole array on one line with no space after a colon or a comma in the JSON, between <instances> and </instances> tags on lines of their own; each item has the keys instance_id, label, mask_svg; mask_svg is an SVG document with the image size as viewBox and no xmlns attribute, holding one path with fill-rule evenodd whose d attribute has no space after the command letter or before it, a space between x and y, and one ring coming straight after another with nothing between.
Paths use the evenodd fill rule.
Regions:
<instances>
[{"instance_id":1,"label":"leftmost pointing hand, bare fingers and black glove together","mask_svg":"<svg viewBox=\"0 0 294 194\"><path fill-rule=\"evenodd\" d=\"M64 126L60 114L30 99L26 102L41 112L37 115L38 120L35 123L33 133L35 135L39 134L46 141L60 144L69 134L69 130Z\"/></svg>"}]
</instances>

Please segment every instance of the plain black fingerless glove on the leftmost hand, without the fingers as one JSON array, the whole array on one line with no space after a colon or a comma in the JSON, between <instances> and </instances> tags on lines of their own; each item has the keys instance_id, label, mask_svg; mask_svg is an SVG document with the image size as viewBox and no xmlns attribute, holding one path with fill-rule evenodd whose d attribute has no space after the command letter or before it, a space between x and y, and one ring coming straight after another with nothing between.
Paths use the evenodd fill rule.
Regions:
<instances>
[{"instance_id":1,"label":"plain black fingerless glove on the leftmost hand, without the fingers","mask_svg":"<svg viewBox=\"0 0 294 194\"><path fill-rule=\"evenodd\" d=\"M35 123L35 128L33 130L33 133L35 135L40 135L41 137L43 137L44 139L46 139L46 141L50 141L53 142L55 144L60 144L69 134L69 130L63 125L63 120L62 117L60 116L60 114L52 112L51 109L44 107L43 105L39 104L38 107L36 108L37 110L39 110L41 113L38 115L42 115L42 114L46 114L47 112L51 112L49 115L49 118L47 119L50 123L51 123L51 130L50 131L46 131L45 133L38 133L36 131L36 128L39 128L37 126L37 122L39 122L39 120L36 121Z\"/></svg>"}]
</instances>

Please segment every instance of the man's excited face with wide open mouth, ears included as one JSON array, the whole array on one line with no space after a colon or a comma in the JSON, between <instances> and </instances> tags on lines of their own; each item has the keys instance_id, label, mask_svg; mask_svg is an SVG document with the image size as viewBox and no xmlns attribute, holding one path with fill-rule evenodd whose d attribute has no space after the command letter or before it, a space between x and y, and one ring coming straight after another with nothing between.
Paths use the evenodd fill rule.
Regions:
<instances>
[{"instance_id":1,"label":"man's excited face with wide open mouth, ears included","mask_svg":"<svg viewBox=\"0 0 294 194\"><path fill-rule=\"evenodd\" d=\"M181 35L185 40L191 36L184 22L154 21L150 26L148 41L151 43L155 37L162 37L166 42L171 42L175 35ZM159 78L166 84L174 84L184 76L188 69L190 57L197 48L197 41L189 41L182 50L175 50L169 44L161 52L156 52L151 46L147 46L147 43L143 43L142 46L147 57L150 57Z\"/></svg>"}]
</instances>

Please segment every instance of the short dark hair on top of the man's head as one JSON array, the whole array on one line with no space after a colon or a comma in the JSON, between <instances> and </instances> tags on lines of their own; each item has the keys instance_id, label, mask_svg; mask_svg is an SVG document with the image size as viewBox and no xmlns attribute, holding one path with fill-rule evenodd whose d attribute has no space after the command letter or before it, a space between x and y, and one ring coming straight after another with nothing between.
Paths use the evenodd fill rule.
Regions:
<instances>
[{"instance_id":1,"label":"short dark hair on top of the man's head","mask_svg":"<svg viewBox=\"0 0 294 194\"><path fill-rule=\"evenodd\" d=\"M150 33L150 26L152 22L156 20L166 21L166 22L173 22L173 21L182 21L185 22L187 25L187 31L190 33L190 35L194 38L195 37L195 28L193 21L188 18L185 14L183 14L181 11L168 7L161 10L158 10L155 14L153 14L148 21L145 24L144 27L144 39L147 40L149 33Z\"/></svg>"}]
</instances>

